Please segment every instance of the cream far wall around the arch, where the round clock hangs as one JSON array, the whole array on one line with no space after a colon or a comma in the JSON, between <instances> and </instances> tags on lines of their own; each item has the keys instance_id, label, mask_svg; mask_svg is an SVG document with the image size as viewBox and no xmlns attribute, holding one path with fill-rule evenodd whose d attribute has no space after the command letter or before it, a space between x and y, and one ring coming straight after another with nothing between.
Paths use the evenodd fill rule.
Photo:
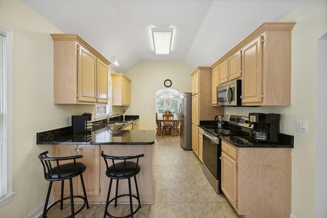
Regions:
<instances>
[{"instance_id":1,"label":"cream far wall around the arch, where the round clock hangs","mask_svg":"<svg viewBox=\"0 0 327 218\"><path fill-rule=\"evenodd\" d=\"M181 61L142 61L126 72L131 82L131 106L126 115L139 115L139 129L155 129L155 92L170 79L180 92L191 92L194 69Z\"/></svg>"}]
</instances>

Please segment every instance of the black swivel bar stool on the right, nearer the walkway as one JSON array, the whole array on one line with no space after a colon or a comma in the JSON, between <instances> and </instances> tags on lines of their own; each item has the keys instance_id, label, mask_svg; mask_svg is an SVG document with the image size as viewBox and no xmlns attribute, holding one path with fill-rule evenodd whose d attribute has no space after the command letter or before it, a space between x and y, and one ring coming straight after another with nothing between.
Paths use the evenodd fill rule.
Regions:
<instances>
[{"instance_id":1,"label":"black swivel bar stool on the right, nearer the walkway","mask_svg":"<svg viewBox=\"0 0 327 218\"><path fill-rule=\"evenodd\" d=\"M140 155L134 155L134 156L125 156L125 157L114 157L114 156L108 156L105 155L104 152L101 152L101 156L104 158L104 161L107 166L106 170L106 175L107 177L110 178L110 184L109 184L109 190L108 190L108 197L107 197L107 202L106 202L106 207L104 211L104 218L108 215L111 218L127 218L127 217L133 217L133 215L138 211L139 208L141 208L141 201L139 200L139 194L138 194L138 188L137 188L137 182L136 182L136 175L141 171L141 167L138 165L138 159L140 157L143 157L144 154ZM107 159L112 160L112 165L108 166ZM126 161L130 159L136 159L136 162L132 161ZM123 160L123 161L122 161ZM130 178L134 177L135 181L135 187L136 187L136 195L132 195L131 191L131 180ZM116 194L115 197L109 200L110 196L110 191L111 191L111 185L112 185L112 179L116 179ZM128 179L128 188L129 188L129 193L128 194L123 194L118 196L118 183L120 179ZM114 201L114 206L117 206L117 199L124 197L124 196L129 196L129 204L130 204L130 210L131 213L126 215L126 216L113 216L108 212L108 206L109 204ZM132 205L132 197L135 198L138 201L138 206L137 208L133 211L133 205Z\"/></svg>"}]
</instances>

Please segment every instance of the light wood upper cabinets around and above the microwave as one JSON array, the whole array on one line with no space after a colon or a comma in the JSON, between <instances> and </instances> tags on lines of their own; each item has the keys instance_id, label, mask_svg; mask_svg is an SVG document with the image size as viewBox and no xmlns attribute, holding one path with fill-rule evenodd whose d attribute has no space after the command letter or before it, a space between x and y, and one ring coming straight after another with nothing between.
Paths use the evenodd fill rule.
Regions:
<instances>
[{"instance_id":1,"label":"light wood upper cabinets around and above the microwave","mask_svg":"<svg viewBox=\"0 0 327 218\"><path fill-rule=\"evenodd\" d=\"M242 79L242 106L291 104L294 25L295 22L263 23L212 66L218 68L219 84Z\"/></svg>"}]
</instances>

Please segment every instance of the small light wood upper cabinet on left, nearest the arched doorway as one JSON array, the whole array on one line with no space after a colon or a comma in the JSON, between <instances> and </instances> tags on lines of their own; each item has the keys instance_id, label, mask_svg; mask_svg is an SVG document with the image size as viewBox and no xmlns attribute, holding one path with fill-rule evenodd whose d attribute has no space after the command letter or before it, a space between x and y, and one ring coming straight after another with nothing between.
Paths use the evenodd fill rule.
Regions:
<instances>
[{"instance_id":1,"label":"small light wood upper cabinet on left, nearest the arched doorway","mask_svg":"<svg viewBox=\"0 0 327 218\"><path fill-rule=\"evenodd\" d=\"M129 106L131 104L131 80L125 74L111 74L112 105Z\"/></svg>"}]
</instances>

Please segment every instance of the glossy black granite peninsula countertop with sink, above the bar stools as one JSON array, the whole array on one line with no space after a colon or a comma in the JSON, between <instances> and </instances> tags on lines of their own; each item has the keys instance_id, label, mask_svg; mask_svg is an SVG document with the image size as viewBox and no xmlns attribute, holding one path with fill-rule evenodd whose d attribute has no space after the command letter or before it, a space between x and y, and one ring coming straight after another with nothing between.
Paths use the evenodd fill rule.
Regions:
<instances>
[{"instance_id":1,"label":"glossy black granite peninsula countertop with sink, above the bar stools","mask_svg":"<svg viewBox=\"0 0 327 218\"><path fill-rule=\"evenodd\" d=\"M113 117L111 122L119 122L122 117ZM125 116L126 125L133 123L138 116ZM109 128L106 120L93 122L90 133L73 134L72 127L38 132L36 144L153 144L156 137L155 130L120 130ZM122 128L122 127L119 127Z\"/></svg>"}]
</instances>

